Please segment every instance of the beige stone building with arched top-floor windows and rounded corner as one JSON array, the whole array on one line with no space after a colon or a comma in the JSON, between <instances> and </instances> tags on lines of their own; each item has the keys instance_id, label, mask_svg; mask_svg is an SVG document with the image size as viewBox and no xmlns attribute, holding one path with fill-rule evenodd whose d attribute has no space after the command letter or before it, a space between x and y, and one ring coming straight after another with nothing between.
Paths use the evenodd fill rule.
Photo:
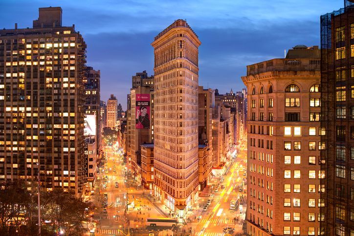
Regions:
<instances>
[{"instance_id":1,"label":"beige stone building with arched top-floor windows and rounded corner","mask_svg":"<svg viewBox=\"0 0 354 236\"><path fill-rule=\"evenodd\" d=\"M247 234L319 235L320 50L297 45L285 59L247 65Z\"/></svg>"}]
</instances>

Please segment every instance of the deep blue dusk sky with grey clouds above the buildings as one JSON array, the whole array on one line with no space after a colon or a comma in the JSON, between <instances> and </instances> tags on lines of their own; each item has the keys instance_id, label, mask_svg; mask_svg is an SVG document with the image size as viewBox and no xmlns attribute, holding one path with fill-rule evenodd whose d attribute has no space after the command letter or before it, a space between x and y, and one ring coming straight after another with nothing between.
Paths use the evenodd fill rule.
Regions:
<instances>
[{"instance_id":1,"label":"deep blue dusk sky with grey clouds above the buildings","mask_svg":"<svg viewBox=\"0 0 354 236\"><path fill-rule=\"evenodd\" d=\"M101 70L101 100L123 108L132 75L154 74L150 43L185 19L199 36L199 85L241 90L246 65L283 58L297 44L320 44L320 15L343 0L0 0L0 28L32 27L38 8L60 6L88 45L87 65Z\"/></svg>"}]
</instances>

